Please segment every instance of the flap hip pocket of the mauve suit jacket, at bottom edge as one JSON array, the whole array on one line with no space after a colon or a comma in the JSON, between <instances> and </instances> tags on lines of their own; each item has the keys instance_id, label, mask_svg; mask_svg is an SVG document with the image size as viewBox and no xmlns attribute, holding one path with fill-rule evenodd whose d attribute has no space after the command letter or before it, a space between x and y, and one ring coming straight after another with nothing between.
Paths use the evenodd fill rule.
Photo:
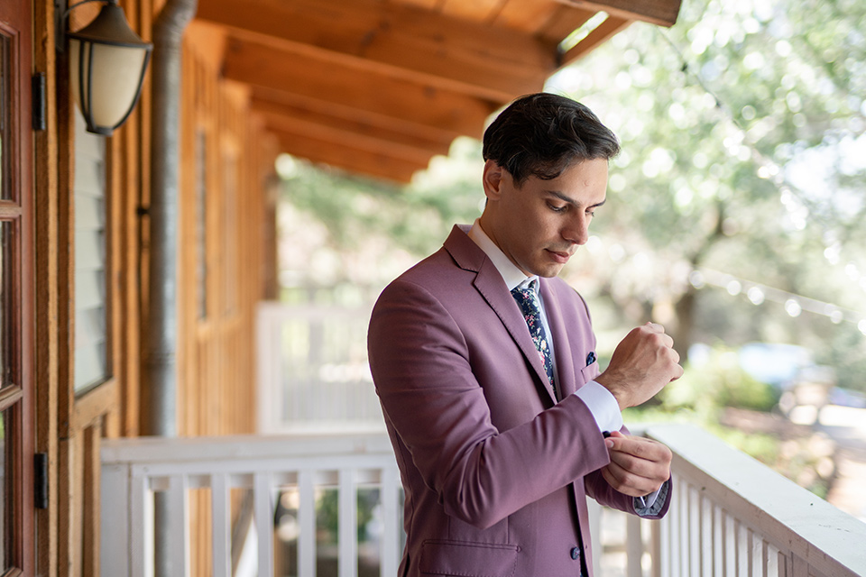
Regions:
<instances>
[{"instance_id":1,"label":"flap hip pocket of the mauve suit jacket, at bottom edge","mask_svg":"<svg viewBox=\"0 0 866 577\"><path fill-rule=\"evenodd\" d=\"M467 541L425 541L420 570L426 575L511 577L517 569L517 545Z\"/></svg>"}]
</instances>

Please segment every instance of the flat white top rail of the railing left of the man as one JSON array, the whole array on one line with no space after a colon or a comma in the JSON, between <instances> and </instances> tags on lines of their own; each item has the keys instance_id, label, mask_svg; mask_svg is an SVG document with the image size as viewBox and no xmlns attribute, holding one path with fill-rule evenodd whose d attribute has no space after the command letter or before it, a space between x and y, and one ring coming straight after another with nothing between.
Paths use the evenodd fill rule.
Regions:
<instances>
[{"instance_id":1,"label":"flat white top rail of the railing left of the man","mask_svg":"<svg viewBox=\"0 0 866 577\"><path fill-rule=\"evenodd\" d=\"M101 459L107 464L189 463L192 461L315 457L337 454L392 455L388 435L225 435L200 437L135 437L106 439Z\"/></svg>"}]
</instances>

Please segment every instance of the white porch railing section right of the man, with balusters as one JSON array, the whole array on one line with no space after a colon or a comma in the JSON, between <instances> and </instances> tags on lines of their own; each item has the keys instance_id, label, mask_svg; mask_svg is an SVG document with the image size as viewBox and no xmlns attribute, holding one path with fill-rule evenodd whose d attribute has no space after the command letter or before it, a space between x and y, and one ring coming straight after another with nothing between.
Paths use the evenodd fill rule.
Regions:
<instances>
[{"instance_id":1,"label":"white porch railing section right of the man, with balusters","mask_svg":"<svg viewBox=\"0 0 866 577\"><path fill-rule=\"evenodd\" d=\"M658 523L625 516L627 577L866 575L866 523L696 426L643 434L674 453L674 500Z\"/></svg>"}]
</instances>

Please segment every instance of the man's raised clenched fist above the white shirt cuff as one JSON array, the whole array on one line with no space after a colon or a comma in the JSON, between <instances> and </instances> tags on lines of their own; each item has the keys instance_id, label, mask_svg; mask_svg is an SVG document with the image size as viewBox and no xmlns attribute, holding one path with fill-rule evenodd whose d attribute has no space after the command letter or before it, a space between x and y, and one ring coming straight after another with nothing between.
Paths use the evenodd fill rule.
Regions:
<instances>
[{"instance_id":1,"label":"man's raised clenched fist above the white shirt cuff","mask_svg":"<svg viewBox=\"0 0 866 577\"><path fill-rule=\"evenodd\" d=\"M647 323L632 329L616 345L607 371L595 381L611 391L620 410L637 407L683 375L673 346L662 325Z\"/></svg>"}]
</instances>

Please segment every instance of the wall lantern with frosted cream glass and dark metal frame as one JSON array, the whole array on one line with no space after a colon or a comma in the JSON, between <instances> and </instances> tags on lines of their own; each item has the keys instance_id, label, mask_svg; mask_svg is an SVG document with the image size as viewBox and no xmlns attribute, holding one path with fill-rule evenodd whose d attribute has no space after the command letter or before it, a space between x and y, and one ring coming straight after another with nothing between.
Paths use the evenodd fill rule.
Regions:
<instances>
[{"instance_id":1,"label":"wall lantern with frosted cream glass and dark metal frame","mask_svg":"<svg viewBox=\"0 0 866 577\"><path fill-rule=\"evenodd\" d=\"M60 8L58 50L64 46L69 12L91 2L106 5L93 22L65 34L69 37L69 79L88 132L111 136L138 102L153 45L132 31L117 0L84 0L67 10Z\"/></svg>"}]
</instances>

